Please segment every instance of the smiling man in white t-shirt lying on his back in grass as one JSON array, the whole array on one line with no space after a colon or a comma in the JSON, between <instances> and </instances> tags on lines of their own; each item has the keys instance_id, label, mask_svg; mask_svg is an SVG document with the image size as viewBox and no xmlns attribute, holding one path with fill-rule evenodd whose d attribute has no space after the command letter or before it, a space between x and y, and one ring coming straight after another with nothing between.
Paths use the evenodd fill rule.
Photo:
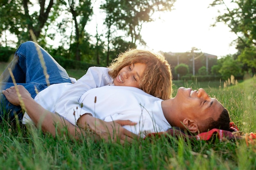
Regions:
<instances>
[{"instance_id":1,"label":"smiling man in white t-shirt lying on his back in grass","mask_svg":"<svg viewBox=\"0 0 256 170\"><path fill-rule=\"evenodd\" d=\"M75 138L83 133L81 129L89 128L103 139L120 139L121 143L125 140L131 142L137 135L145 132L165 131L171 126L193 133L206 132L212 128L229 130L227 110L217 99L210 98L202 88L198 91L179 88L177 95L167 100L153 97L134 87L94 88L81 97L85 101L82 102L83 112L76 113L74 110L74 115L51 113L36 103L23 86L19 85L17 89L21 100L15 87L2 93L14 105L21 105L22 101L36 126L52 135L56 135L56 124L58 130L66 126L69 135Z\"/></svg>"}]
</instances>

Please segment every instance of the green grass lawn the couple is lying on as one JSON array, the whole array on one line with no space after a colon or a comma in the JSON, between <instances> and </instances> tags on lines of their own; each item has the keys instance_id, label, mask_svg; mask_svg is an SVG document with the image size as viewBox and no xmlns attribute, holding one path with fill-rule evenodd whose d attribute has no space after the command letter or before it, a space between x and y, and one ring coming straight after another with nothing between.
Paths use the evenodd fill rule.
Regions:
<instances>
[{"instance_id":1,"label":"green grass lawn the couple is lying on","mask_svg":"<svg viewBox=\"0 0 256 170\"><path fill-rule=\"evenodd\" d=\"M1 67L2 68L2 67ZM79 78L83 71L67 71ZM78 74L79 73L79 74ZM203 87L223 103L240 130L256 132L256 77L238 85L219 88L220 82L177 82ZM256 169L256 145L240 141L187 141L156 138L124 146L85 137L71 141L65 135L53 138L40 130L0 125L0 169L3 170L130 170L130 169Z\"/></svg>"}]
</instances>

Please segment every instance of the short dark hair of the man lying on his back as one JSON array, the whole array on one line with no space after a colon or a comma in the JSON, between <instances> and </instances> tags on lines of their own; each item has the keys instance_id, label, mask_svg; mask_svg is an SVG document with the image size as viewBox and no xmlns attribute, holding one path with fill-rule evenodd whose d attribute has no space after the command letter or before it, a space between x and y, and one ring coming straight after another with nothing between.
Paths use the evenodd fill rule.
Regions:
<instances>
[{"instance_id":1,"label":"short dark hair of the man lying on his back","mask_svg":"<svg viewBox=\"0 0 256 170\"><path fill-rule=\"evenodd\" d=\"M229 130L229 123L230 123L230 118L229 118L229 111L227 109L223 109L220 117L215 121L213 120L212 117L206 119L202 125L199 127L199 131L201 132L207 132L208 130L217 128L217 129L222 129L222 130Z\"/></svg>"}]
</instances>

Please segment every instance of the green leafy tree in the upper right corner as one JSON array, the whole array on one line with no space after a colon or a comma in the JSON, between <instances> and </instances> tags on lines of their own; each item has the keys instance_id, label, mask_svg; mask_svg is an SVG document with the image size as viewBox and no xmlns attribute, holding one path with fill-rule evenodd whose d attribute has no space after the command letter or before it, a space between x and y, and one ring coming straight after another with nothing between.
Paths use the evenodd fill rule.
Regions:
<instances>
[{"instance_id":1,"label":"green leafy tree in the upper right corner","mask_svg":"<svg viewBox=\"0 0 256 170\"><path fill-rule=\"evenodd\" d=\"M232 0L226 4L224 0L214 0L211 6L222 5L225 12L220 13L216 22L224 22L234 32L238 58L243 64L256 60L256 0ZM232 8L231 8L232 7ZM214 25L213 25L214 26ZM250 62L248 62L250 61ZM255 74L255 64L248 65Z\"/></svg>"}]
</instances>

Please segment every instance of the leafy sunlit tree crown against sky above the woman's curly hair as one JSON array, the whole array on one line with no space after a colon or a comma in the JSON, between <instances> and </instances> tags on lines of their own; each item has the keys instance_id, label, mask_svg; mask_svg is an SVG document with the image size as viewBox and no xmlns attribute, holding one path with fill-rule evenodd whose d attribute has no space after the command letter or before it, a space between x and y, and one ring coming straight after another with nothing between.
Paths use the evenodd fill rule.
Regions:
<instances>
[{"instance_id":1,"label":"leafy sunlit tree crown against sky above the woman's curly hair","mask_svg":"<svg viewBox=\"0 0 256 170\"><path fill-rule=\"evenodd\" d=\"M144 22L153 21L152 15L157 11L171 11L175 0L106 0L101 9L106 12L108 29L115 25L125 31L131 43L146 44L140 31Z\"/></svg>"}]
</instances>

